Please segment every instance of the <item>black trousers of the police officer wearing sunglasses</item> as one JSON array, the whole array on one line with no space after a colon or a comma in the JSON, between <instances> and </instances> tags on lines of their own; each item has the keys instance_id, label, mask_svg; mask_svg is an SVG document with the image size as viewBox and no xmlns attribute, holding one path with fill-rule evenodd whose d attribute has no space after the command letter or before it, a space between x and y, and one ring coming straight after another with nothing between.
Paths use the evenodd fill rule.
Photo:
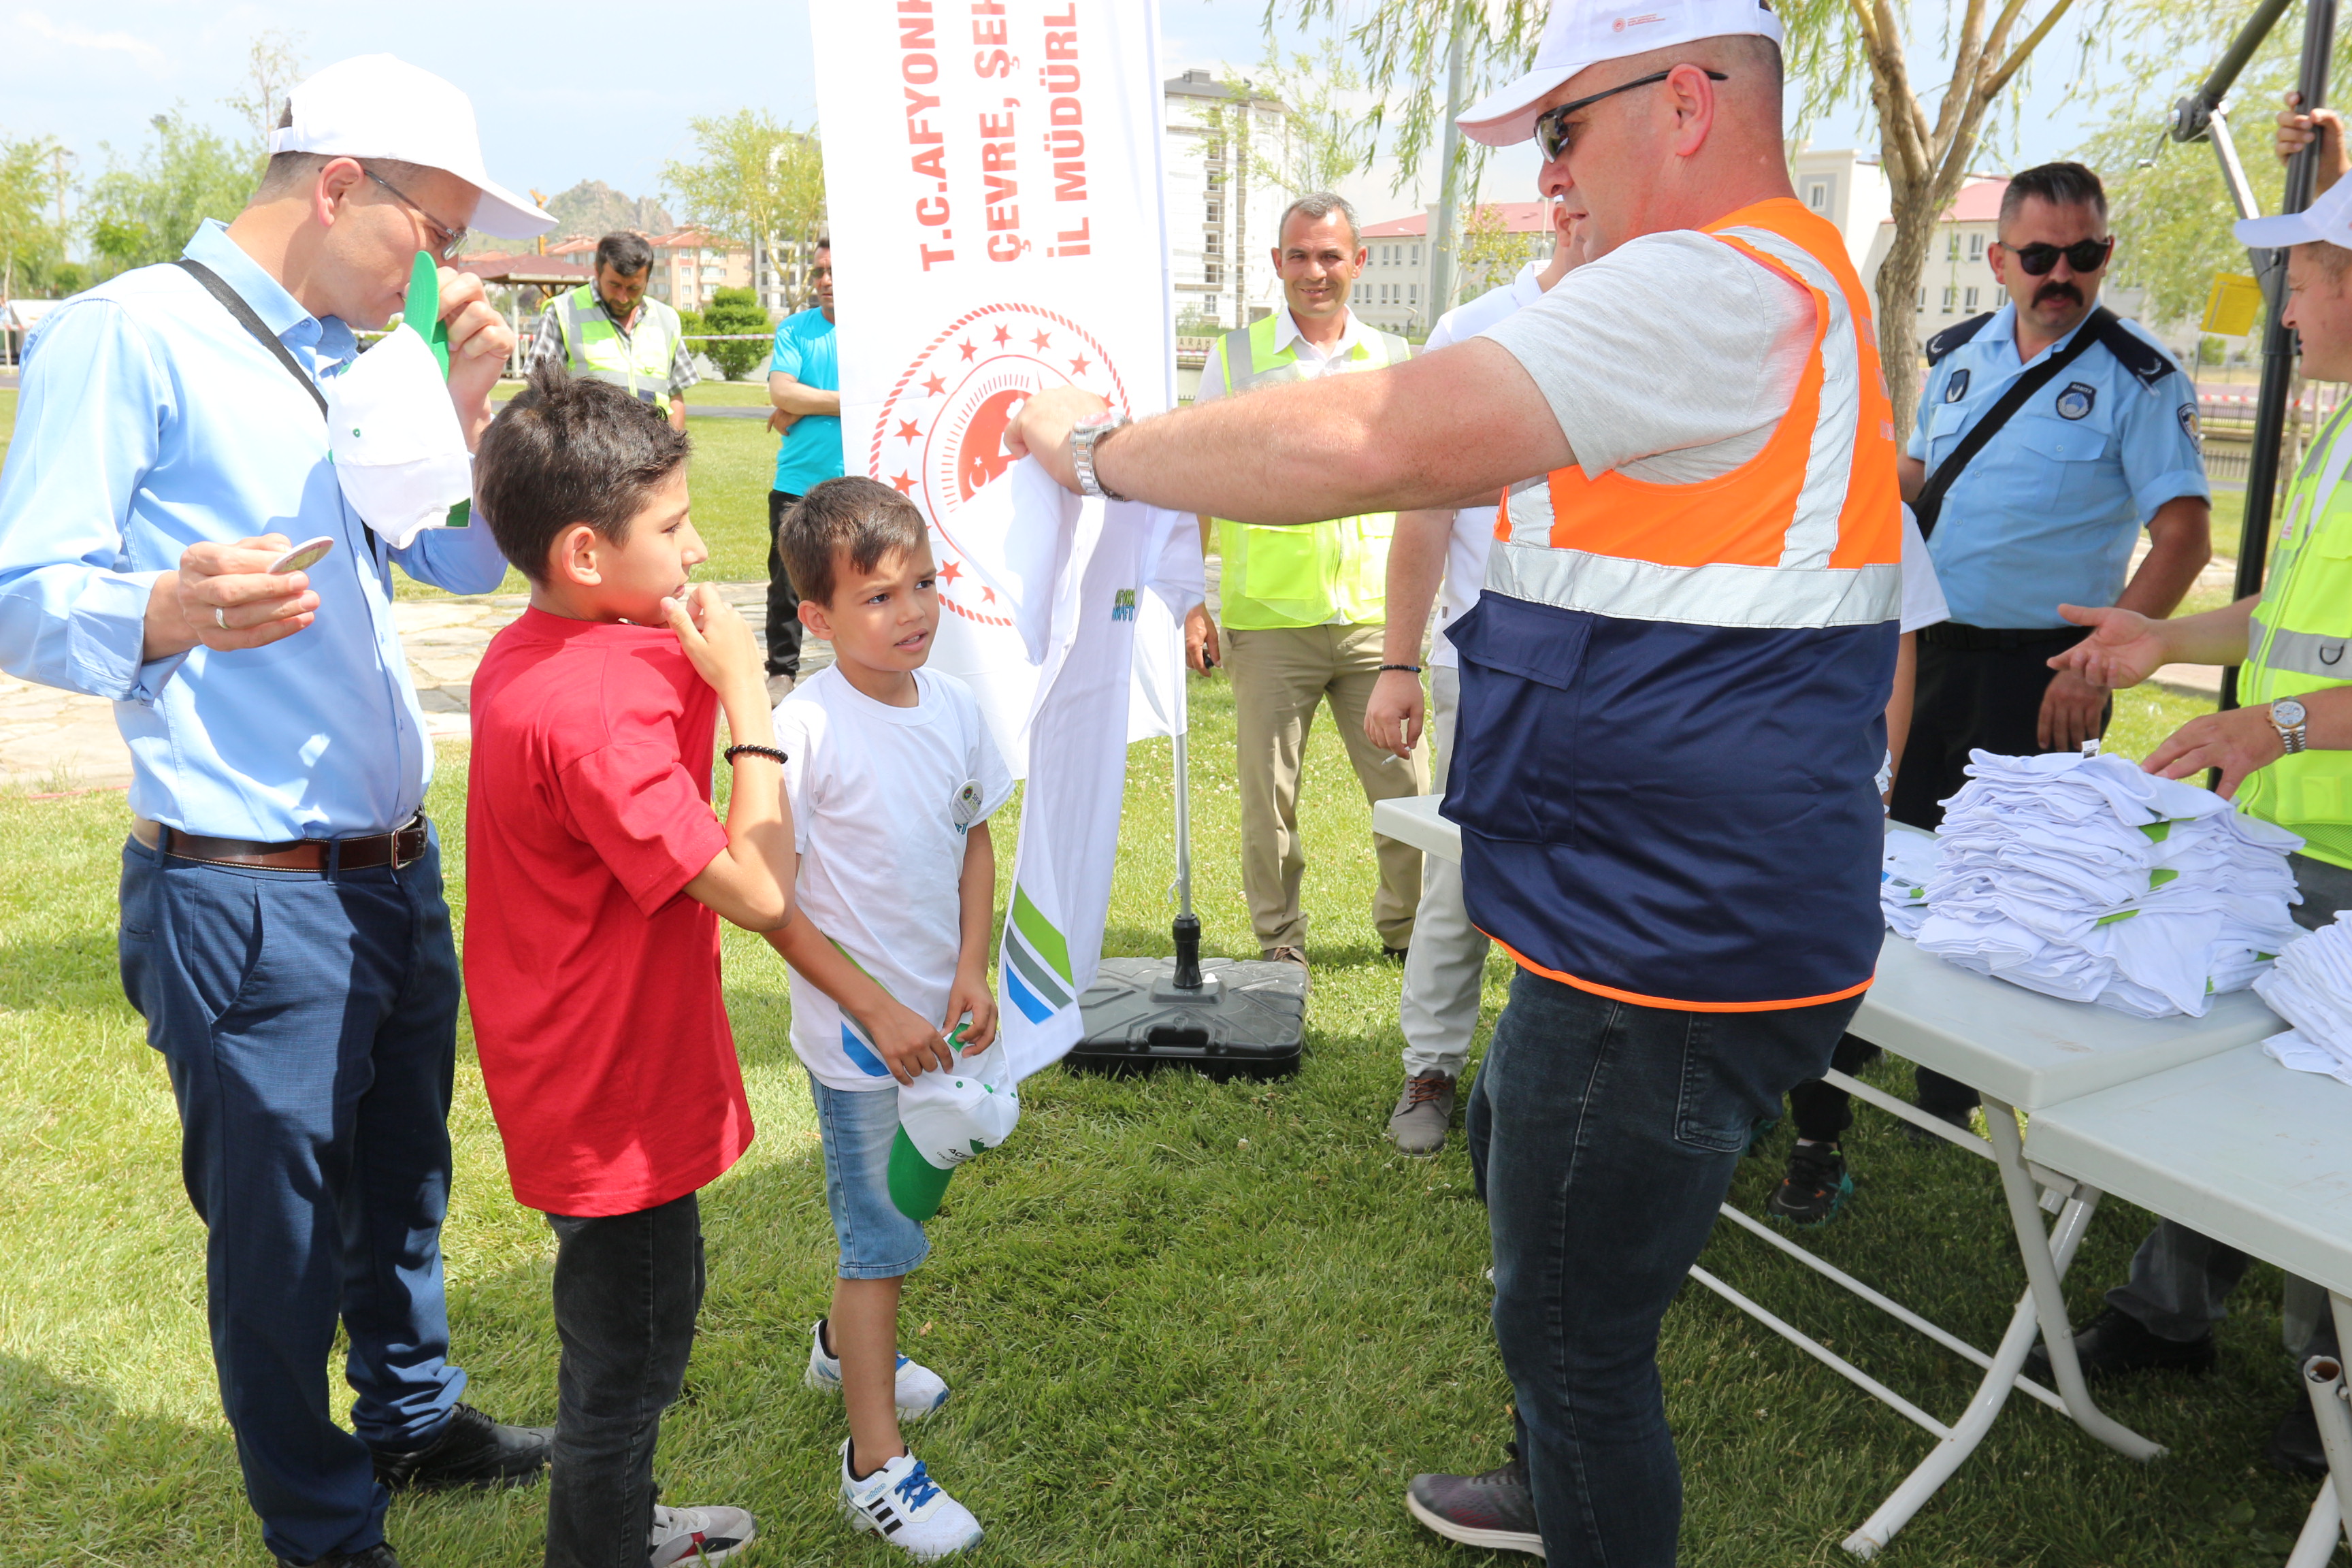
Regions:
<instances>
[{"instance_id":1,"label":"black trousers of the police officer wearing sunglasses","mask_svg":"<svg viewBox=\"0 0 2352 1568\"><path fill-rule=\"evenodd\" d=\"M1896 769L1889 816L1936 832L1943 823L1943 802L1969 783L1971 750L2002 757L2032 757L2044 750L2034 729L2042 719L2042 696L2051 684L2049 661L2089 635L2079 625L2004 632L1945 623L1922 630L1912 729L1903 745L1903 766ZM2011 646L1987 646L1999 642ZM2098 717L2100 733L2107 733L2112 717L2110 701ZM1929 1067L1919 1067L1917 1079L1919 1110L1938 1117L1966 1117L1976 1110L1976 1091L1959 1079Z\"/></svg>"}]
</instances>

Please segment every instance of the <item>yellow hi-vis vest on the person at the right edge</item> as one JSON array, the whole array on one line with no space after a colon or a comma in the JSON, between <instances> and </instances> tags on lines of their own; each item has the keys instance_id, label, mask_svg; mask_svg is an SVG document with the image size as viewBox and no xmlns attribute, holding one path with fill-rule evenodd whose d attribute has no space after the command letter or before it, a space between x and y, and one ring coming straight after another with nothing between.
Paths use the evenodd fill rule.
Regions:
<instances>
[{"instance_id":1,"label":"yellow hi-vis vest on the person at the right edge","mask_svg":"<svg viewBox=\"0 0 2352 1568\"><path fill-rule=\"evenodd\" d=\"M2352 684L2352 487L2343 484L2340 442L2352 442L2352 407L2312 442L2279 508L2263 602L2253 607L2246 665L2237 675L2246 708ZM2303 835L2303 853L2314 860L2352 867L2352 752L2279 757L2249 776L2237 799Z\"/></svg>"}]
</instances>

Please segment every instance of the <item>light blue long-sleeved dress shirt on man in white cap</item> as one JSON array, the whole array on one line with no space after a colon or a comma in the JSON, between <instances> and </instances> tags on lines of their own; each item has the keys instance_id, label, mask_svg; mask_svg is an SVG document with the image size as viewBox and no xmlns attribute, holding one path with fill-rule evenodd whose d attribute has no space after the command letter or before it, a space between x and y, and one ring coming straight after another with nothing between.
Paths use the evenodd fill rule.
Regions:
<instances>
[{"instance_id":1,"label":"light blue long-sleeved dress shirt on man in white cap","mask_svg":"<svg viewBox=\"0 0 2352 1568\"><path fill-rule=\"evenodd\" d=\"M188 256L329 376L358 353L207 221ZM334 538L318 621L266 649L139 661L155 581L200 541ZM437 588L506 576L489 529L426 529L390 559ZM151 266L78 294L26 346L0 468L0 670L115 701L132 811L226 839L386 832L416 816L433 745L369 555L294 376L202 284Z\"/></svg>"}]
</instances>

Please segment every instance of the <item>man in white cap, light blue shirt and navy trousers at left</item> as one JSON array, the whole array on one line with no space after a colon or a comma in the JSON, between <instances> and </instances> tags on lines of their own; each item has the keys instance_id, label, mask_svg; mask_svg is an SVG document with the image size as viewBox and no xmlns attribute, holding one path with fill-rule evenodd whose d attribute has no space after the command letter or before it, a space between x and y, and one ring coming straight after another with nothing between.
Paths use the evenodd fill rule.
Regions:
<instances>
[{"instance_id":1,"label":"man in white cap, light blue shirt and navy trousers at left","mask_svg":"<svg viewBox=\"0 0 2352 1568\"><path fill-rule=\"evenodd\" d=\"M327 458L318 383L402 306L419 249L546 214L482 172L461 92L376 54L294 89L270 165L179 266L125 273L26 350L0 470L0 668L115 701L132 748L122 985L181 1112L221 1403L285 1563L395 1568L386 1486L520 1479L543 1432L459 1403L440 1222L459 969L390 567L482 592L489 529L386 552ZM468 444L513 334L447 268ZM273 574L325 536L308 571ZM353 1427L327 1356L350 1335Z\"/></svg>"}]
</instances>

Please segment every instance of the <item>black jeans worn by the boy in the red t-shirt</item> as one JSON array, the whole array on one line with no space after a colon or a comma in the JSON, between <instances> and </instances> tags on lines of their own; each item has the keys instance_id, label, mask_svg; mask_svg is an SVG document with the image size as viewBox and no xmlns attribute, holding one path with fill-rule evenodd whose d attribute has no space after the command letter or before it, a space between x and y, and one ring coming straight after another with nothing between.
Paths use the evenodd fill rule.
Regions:
<instances>
[{"instance_id":1,"label":"black jeans worn by the boy in the red t-shirt","mask_svg":"<svg viewBox=\"0 0 2352 1568\"><path fill-rule=\"evenodd\" d=\"M555 1227L555 1462L548 1568L644 1568L654 1441L687 1380L703 1305L701 1206L682 1199Z\"/></svg>"}]
</instances>

